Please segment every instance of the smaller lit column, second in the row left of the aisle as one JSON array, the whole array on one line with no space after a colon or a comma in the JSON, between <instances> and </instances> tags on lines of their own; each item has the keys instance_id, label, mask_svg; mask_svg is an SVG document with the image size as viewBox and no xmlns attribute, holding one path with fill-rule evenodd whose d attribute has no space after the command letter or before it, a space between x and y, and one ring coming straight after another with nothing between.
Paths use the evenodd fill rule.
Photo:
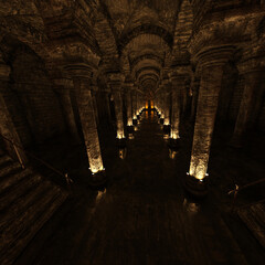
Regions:
<instances>
[{"instance_id":1,"label":"smaller lit column, second in the row left of the aisle","mask_svg":"<svg viewBox=\"0 0 265 265\"><path fill-rule=\"evenodd\" d=\"M109 73L108 84L110 86L114 105L115 105L115 116L116 116L116 127L117 127L117 139L124 139L124 115L123 115L123 98L121 98L121 74Z\"/></svg>"}]
</instances>

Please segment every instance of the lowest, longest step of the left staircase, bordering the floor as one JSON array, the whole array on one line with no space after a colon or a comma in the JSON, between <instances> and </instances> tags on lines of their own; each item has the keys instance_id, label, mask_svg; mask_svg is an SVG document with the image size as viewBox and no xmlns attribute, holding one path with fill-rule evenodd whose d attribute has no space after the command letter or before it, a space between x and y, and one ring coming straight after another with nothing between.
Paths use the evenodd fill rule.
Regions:
<instances>
[{"instance_id":1,"label":"lowest, longest step of the left staircase, bordering the floor","mask_svg":"<svg viewBox=\"0 0 265 265\"><path fill-rule=\"evenodd\" d=\"M13 236L9 236L4 247L0 250L0 264L11 265L18 255L23 251L36 232L52 216L57 208L65 201L65 193L60 193L59 189L52 189L35 205L26 211L26 219L22 223L17 222L17 231ZM10 233L9 231L8 233ZM6 234L8 236L8 234Z\"/></svg>"}]
</instances>

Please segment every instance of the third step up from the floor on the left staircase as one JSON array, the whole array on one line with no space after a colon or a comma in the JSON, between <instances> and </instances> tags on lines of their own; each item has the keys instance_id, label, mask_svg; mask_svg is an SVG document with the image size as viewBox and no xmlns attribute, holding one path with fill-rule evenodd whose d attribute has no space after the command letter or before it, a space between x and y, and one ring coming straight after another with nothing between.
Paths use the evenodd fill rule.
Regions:
<instances>
[{"instance_id":1,"label":"third step up from the floor on the left staircase","mask_svg":"<svg viewBox=\"0 0 265 265\"><path fill-rule=\"evenodd\" d=\"M19 197L23 197L29 190L34 189L41 181L41 177L38 174L30 174L25 179L19 181L12 187L11 191L7 190L0 194L0 211L8 208Z\"/></svg>"}]
</instances>

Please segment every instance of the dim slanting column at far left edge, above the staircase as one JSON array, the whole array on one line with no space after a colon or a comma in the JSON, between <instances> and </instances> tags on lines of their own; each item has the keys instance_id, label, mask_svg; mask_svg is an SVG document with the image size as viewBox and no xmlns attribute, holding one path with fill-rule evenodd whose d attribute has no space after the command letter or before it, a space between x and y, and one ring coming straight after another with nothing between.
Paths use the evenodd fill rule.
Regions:
<instances>
[{"instance_id":1,"label":"dim slanting column at far left edge, above the staircase","mask_svg":"<svg viewBox=\"0 0 265 265\"><path fill-rule=\"evenodd\" d=\"M0 134L7 139L10 139L17 144L17 146L14 146L7 139L2 140L4 149L8 151L8 153L13 159L18 159L21 166L24 167L24 165L28 162L28 158L3 98L3 95L8 89L9 74L10 67L3 62L0 62ZM2 136L0 137L2 138Z\"/></svg>"}]
</instances>

